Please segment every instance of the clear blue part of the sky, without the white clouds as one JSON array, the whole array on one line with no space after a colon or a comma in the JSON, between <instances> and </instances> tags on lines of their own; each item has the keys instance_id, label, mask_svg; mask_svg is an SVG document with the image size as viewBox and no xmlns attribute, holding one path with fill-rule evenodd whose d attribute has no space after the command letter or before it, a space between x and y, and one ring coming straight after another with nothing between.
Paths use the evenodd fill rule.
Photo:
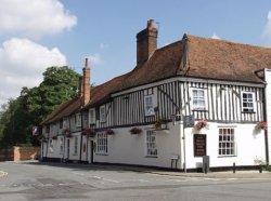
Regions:
<instances>
[{"instance_id":1,"label":"clear blue part of the sky, without the white clouds","mask_svg":"<svg viewBox=\"0 0 271 201\"><path fill-rule=\"evenodd\" d=\"M78 17L78 24L72 31L44 42L56 44L77 71L83 55L99 54L102 63L93 66L95 83L133 68L136 34L149 18L159 23L159 46L181 39L184 32L203 37L216 32L222 39L262 45L262 31L271 10L268 0L65 0L63 3Z\"/></svg>"}]
</instances>

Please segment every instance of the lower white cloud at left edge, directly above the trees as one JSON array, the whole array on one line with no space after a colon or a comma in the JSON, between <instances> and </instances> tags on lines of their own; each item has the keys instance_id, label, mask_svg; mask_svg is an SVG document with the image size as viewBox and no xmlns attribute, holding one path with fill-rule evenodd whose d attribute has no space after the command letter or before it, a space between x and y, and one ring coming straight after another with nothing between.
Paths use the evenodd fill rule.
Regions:
<instances>
[{"instance_id":1,"label":"lower white cloud at left edge, directly above the trees","mask_svg":"<svg viewBox=\"0 0 271 201\"><path fill-rule=\"evenodd\" d=\"M66 65L57 48L49 50L28 39L13 38L0 48L0 105L20 95L22 86L33 88L49 66Z\"/></svg>"}]
</instances>

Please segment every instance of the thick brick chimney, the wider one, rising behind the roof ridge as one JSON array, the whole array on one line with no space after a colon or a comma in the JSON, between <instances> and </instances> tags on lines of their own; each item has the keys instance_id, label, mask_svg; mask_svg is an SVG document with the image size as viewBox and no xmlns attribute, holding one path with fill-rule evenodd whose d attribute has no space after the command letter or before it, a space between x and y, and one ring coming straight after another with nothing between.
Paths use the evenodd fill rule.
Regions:
<instances>
[{"instance_id":1,"label":"thick brick chimney, the wider one, rising behind the roof ridge","mask_svg":"<svg viewBox=\"0 0 271 201\"><path fill-rule=\"evenodd\" d=\"M144 64L157 49L157 36L154 19L149 19L146 28L137 35L137 65Z\"/></svg>"}]
</instances>

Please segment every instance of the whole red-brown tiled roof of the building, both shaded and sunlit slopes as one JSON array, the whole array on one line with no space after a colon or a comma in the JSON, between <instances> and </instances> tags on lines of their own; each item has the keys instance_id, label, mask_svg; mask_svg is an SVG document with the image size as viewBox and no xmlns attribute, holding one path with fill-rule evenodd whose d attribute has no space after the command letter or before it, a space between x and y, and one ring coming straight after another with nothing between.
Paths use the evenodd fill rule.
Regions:
<instances>
[{"instance_id":1,"label":"whole red-brown tiled roof of the building, both shaded and sunlit slopes","mask_svg":"<svg viewBox=\"0 0 271 201\"><path fill-rule=\"evenodd\" d=\"M86 108L107 100L112 93L176 76L262 83L255 71L268 67L271 67L271 49L184 35L182 40L157 49L143 65L93 88ZM79 109L79 98L69 100L43 123Z\"/></svg>"}]
</instances>

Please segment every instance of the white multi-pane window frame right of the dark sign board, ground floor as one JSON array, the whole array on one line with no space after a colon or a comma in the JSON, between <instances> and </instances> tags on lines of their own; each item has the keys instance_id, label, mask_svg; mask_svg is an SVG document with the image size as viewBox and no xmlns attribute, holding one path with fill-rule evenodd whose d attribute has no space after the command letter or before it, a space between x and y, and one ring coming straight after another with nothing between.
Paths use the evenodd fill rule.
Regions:
<instances>
[{"instance_id":1,"label":"white multi-pane window frame right of the dark sign board, ground floor","mask_svg":"<svg viewBox=\"0 0 271 201\"><path fill-rule=\"evenodd\" d=\"M220 132L221 131L221 132ZM224 132L227 131L227 133ZM230 133L228 133L231 131ZM236 130L233 126L221 126L218 129L218 157L236 157ZM229 150L229 153L228 153Z\"/></svg>"}]
</instances>

